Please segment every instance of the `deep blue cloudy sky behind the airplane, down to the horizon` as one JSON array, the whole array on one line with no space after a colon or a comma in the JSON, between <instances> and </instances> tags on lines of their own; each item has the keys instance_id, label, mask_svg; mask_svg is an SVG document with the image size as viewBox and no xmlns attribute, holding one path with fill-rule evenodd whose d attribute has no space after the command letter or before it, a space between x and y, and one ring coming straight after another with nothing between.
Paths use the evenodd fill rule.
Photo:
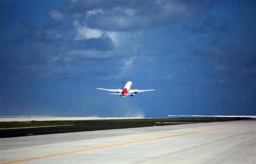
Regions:
<instances>
[{"instance_id":1,"label":"deep blue cloudy sky behind the airplane, down to the horizon","mask_svg":"<svg viewBox=\"0 0 256 164\"><path fill-rule=\"evenodd\" d=\"M167 115L256 115L255 0L0 1L0 116Z\"/></svg>"}]
</instances>

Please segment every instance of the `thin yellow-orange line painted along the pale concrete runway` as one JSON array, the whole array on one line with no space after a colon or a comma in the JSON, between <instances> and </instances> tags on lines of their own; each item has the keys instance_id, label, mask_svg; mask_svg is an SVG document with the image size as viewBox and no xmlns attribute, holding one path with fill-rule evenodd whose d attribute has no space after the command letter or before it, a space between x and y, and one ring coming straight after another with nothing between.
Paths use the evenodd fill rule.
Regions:
<instances>
[{"instance_id":1,"label":"thin yellow-orange line painted along the pale concrete runway","mask_svg":"<svg viewBox=\"0 0 256 164\"><path fill-rule=\"evenodd\" d=\"M255 124L255 123L254 123L254 124ZM108 145L108 146L100 146L100 147L94 147L94 148L88 148L88 149L70 151L70 152L65 152L65 153L58 153L58 154L54 154L54 155L38 156L38 157L33 157L33 158L21 159L21 160L17 160L17 161L4 162L4 163L0 163L0 164L14 164L14 163L18 163L18 162L26 162L26 161L36 160L36 159L49 158L49 157L53 157L53 156L68 155L68 154L74 154L74 153L85 152L85 151L90 151L90 150L97 150L97 149L103 149L103 148L108 148L108 147L129 145L129 144L135 144L135 143L146 142L146 141L152 141L152 140L163 139L163 138L170 138L170 137L177 137L177 136L185 136L185 135L191 135L191 134L196 134L196 133L209 132L209 131L220 130L220 129L235 128L235 127L243 127L243 126L254 125L254 124L244 124L244 125L238 125L238 126L232 126L232 127L215 128L215 129L203 130L203 131L197 131L197 132L191 132L191 133L183 133L183 134L173 135L173 136L149 138L149 139L144 139L144 140L139 140L139 141L132 141L132 142L126 142L126 143L120 143L120 144L114 144L114 145Z\"/></svg>"}]
</instances>

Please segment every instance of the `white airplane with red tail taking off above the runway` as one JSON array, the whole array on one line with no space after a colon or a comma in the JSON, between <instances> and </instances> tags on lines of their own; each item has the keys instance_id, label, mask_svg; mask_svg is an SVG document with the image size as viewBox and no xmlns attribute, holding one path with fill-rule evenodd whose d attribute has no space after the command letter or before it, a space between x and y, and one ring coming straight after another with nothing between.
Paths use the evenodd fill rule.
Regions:
<instances>
[{"instance_id":1,"label":"white airplane with red tail taking off above the runway","mask_svg":"<svg viewBox=\"0 0 256 164\"><path fill-rule=\"evenodd\" d=\"M131 97L133 97L134 94L137 94L138 92L144 92L144 91L156 91L156 89L154 90L132 90L132 82L127 82L124 86L124 82L122 81L122 86L123 86L123 89L118 89L118 90L115 90L115 89L103 89L103 88L97 88L95 85L95 89L97 90L105 90L105 91L113 91L113 92L117 92L117 93L110 93L110 94L116 94L116 95L120 95L122 97L126 97L128 95L130 95Z\"/></svg>"}]
</instances>

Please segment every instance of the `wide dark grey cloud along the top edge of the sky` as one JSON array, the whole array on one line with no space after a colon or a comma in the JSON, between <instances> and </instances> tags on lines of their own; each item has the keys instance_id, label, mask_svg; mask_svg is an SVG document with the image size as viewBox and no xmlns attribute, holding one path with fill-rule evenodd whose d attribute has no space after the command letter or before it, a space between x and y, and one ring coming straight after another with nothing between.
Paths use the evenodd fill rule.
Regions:
<instances>
[{"instance_id":1,"label":"wide dark grey cloud along the top edge of the sky","mask_svg":"<svg viewBox=\"0 0 256 164\"><path fill-rule=\"evenodd\" d=\"M79 22L87 27L130 31L188 22L207 13L212 6L211 1L78 0L69 1L66 10L79 13Z\"/></svg>"}]
</instances>

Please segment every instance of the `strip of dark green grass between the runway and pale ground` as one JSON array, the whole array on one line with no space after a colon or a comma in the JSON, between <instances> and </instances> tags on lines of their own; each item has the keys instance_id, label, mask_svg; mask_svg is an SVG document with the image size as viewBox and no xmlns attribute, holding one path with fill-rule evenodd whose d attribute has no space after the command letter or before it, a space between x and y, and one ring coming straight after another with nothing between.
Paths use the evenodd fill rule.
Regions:
<instances>
[{"instance_id":1,"label":"strip of dark green grass between the runway and pale ground","mask_svg":"<svg viewBox=\"0 0 256 164\"><path fill-rule=\"evenodd\" d=\"M245 118L143 118L143 119L108 119L108 120L73 120L73 121L30 121L0 122L0 138L55 133L71 133L119 128L139 128L151 126L177 125L184 123L234 121ZM69 125L69 126L63 126ZM46 127L58 126L58 127ZM25 128L38 127L38 128ZM17 129L5 129L17 128Z\"/></svg>"}]
</instances>

